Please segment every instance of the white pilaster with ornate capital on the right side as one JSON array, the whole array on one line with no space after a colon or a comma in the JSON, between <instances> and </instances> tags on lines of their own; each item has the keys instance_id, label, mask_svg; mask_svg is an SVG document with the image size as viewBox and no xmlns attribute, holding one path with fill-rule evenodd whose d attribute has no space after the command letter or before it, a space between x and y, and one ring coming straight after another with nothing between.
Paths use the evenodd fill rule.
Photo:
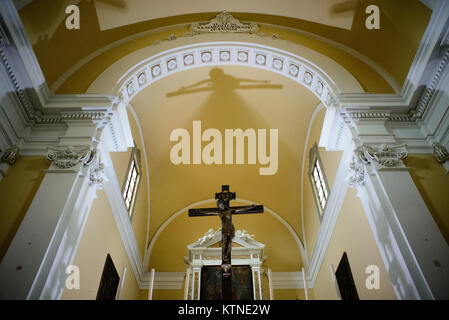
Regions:
<instances>
[{"instance_id":1,"label":"white pilaster with ornate capital on the right side","mask_svg":"<svg viewBox=\"0 0 449 320\"><path fill-rule=\"evenodd\" d=\"M362 145L349 165L396 295L447 299L449 247L402 159L404 145Z\"/></svg>"}]
</instances>

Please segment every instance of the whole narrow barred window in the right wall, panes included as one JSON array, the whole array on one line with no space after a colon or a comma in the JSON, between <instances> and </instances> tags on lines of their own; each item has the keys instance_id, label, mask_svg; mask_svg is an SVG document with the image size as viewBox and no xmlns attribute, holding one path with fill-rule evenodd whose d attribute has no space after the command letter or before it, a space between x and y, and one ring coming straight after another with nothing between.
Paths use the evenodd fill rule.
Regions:
<instances>
[{"instance_id":1,"label":"whole narrow barred window in the right wall, panes included","mask_svg":"<svg viewBox=\"0 0 449 320\"><path fill-rule=\"evenodd\" d=\"M329 185L327 184L326 175L324 174L316 143L314 143L309 153L309 178L318 208L318 215L320 220L322 220L327 199L329 198Z\"/></svg>"}]
</instances>

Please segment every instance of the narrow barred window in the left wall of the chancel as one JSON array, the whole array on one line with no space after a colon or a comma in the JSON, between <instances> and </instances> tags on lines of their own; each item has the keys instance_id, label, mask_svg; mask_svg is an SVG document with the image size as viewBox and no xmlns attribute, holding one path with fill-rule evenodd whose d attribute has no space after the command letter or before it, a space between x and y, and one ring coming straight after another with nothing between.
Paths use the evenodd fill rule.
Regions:
<instances>
[{"instance_id":1,"label":"narrow barred window in the left wall of the chancel","mask_svg":"<svg viewBox=\"0 0 449 320\"><path fill-rule=\"evenodd\" d=\"M134 147L131 152L126 178L122 187L123 200L128 210L129 218L132 218L137 190L141 177L142 167L140 163L140 150Z\"/></svg>"}]
</instances>

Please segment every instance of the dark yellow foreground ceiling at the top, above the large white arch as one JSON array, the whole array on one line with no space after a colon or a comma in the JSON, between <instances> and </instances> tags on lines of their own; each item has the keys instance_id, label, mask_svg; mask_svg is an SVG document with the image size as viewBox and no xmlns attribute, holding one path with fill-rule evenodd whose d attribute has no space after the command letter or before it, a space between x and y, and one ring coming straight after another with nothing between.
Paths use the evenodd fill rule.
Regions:
<instances>
[{"instance_id":1,"label":"dark yellow foreground ceiling at the top, above the large white arch","mask_svg":"<svg viewBox=\"0 0 449 320\"><path fill-rule=\"evenodd\" d=\"M89 72L73 75L78 76L78 81L83 79L80 82L87 83L85 86L69 81L58 91L82 93L95 75L123 55L166 40L170 34L181 37L192 22L209 21L222 10L228 10L241 21L258 23L261 33L277 34L281 39L306 45L335 59L356 78L362 77L359 74L362 69L366 69L362 72L366 74L385 71L401 86L431 14L418 0L356 2L359 5L343 10L344 13L335 7L343 2L340 0L284 0L284 5L283 1L264 0L257 4L229 1L225 7L221 1L188 2L188 5L173 1L156 5L154 1L142 0L81 0L78 1L80 30L65 28L65 7L73 1L31 1L21 8L19 15L49 86L67 72L73 73L92 62L95 68L86 67L92 75ZM365 27L364 9L368 4L381 9L380 30ZM100 53L101 59L93 61L92 55ZM374 82L382 82L382 77ZM385 80L383 83L364 86L368 92L393 92Z\"/></svg>"}]
</instances>

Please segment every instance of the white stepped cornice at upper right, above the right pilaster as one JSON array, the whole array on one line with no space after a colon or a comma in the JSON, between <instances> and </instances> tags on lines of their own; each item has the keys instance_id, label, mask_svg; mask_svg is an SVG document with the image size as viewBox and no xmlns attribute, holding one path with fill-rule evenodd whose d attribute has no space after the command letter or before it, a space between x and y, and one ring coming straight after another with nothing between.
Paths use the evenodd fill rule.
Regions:
<instances>
[{"instance_id":1,"label":"white stepped cornice at upper right, above the right pilaster","mask_svg":"<svg viewBox=\"0 0 449 320\"><path fill-rule=\"evenodd\" d=\"M399 95L340 95L337 106L348 108L346 115L352 119L385 119L392 123L424 120L449 63L449 49L445 46L448 20L449 2L439 1ZM423 83L428 85L416 99L416 90Z\"/></svg>"}]
</instances>

